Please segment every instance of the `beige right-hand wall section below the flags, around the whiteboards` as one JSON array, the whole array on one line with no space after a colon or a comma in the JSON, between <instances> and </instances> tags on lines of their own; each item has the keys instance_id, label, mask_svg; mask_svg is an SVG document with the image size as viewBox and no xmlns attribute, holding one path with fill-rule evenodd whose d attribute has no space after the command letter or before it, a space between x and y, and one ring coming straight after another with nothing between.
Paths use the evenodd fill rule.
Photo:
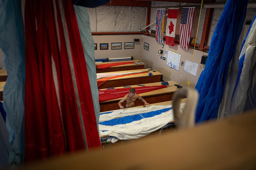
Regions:
<instances>
[{"instance_id":1,"label":"beige right-hand wall section below the flags, around the whiteboards","mask_svg":"<svg viewBox=\"0 0 256 170\"><path fill-rule=\"evenodd\" d=\"M161 60L158 53L159 50L163 50L165 52L166 48L168 48L168 50L181 54L181 61L183 61L185 64L186 59L192 61L194 49L189 48L189 50L184 50L180 48L180 46L177 44L174 44L174 46L168 46L165 45L165 41L163 43L157 43L155 41L155 38L149 36L144 36L143 40L145 43L149 44L148 51L143 49L141 59L146 64L146 68L153 67L154 69L162 73L164 81L172 80L172 77L174 77L174 80L182 86L195 88L199 75L204 69L204 65L198 64L196 77L190 75L189 79L189 73L184 71L184 66L181 66L181 62L179 66L179 71L177 71L176 69L167 66L166 61ZM161 48L162 44L164 45L164 48ZM202 51L195 50L193 62L200 63L203 55L208 56L208 53L203 53ZM190 85L187 85L188 80L190 82Z\"/></svg>"}]
</instances>

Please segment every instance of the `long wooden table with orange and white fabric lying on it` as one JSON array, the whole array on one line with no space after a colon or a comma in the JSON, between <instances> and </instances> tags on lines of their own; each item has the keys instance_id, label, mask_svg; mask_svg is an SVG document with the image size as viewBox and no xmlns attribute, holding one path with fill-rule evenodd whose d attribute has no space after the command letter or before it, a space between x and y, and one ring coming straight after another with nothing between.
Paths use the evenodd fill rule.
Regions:
<instances>
[{"instance_id":1,"label":"long wooden table with orange and white fabric lying on it","mask_svg":"<svg viewBox=\"0 0 256 170\"><path fill-rule=\"evenodd\" d=\"M108 72L108 73L128 73L128 72L140 72L140 71L148 71L148 69L137 69L137 70L127 70L127 71L120 71L120 72ZM113 88L113 87L121 87L121 86L128 86L128 85L138 85L138 84L145 84L145 83L153 83L153 82L160 82L162 73L156 71L152 72L153 75L149 76L149 72L141 73L137 75L129 75L124 77L113 78L105 82L104 84L100 85L98 89L104 88Z\"/></svg>"}]
</instances>

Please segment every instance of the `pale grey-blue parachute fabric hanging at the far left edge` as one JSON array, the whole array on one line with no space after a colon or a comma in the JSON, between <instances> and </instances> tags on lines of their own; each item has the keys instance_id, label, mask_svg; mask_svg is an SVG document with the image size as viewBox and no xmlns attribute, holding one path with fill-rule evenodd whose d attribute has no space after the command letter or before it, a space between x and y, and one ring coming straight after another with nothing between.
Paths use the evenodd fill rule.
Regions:
<instances>
[{"instance_id":1,"label":"pale grey-blue parachute fabric hanging at the far left edge","mask_svg":"<svg viewBox=\"0 0 256 170\"><path fill-rule=\"evenodd\" d=\"M12 149L9 155L11 169L17 169L24 161L24 80L25 34L20 1L0 2L0 47L4 52L7 81L3 99L6 111L6 127Z\"/></svg>"}]
</instances>

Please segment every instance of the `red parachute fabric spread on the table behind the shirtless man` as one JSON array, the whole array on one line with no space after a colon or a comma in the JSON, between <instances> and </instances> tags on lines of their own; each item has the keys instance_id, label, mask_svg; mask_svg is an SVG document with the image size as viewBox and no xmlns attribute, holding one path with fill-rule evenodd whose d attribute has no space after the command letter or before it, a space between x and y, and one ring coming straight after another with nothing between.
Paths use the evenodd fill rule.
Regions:
<instances>
[{"instance_id":1,"label":"red parachute fabric spread on the table behind the shirtless man","mask_svg":"<svg viewBox=\"0 0 256 170\"><path fill-rule=\"evenodd\" d=\"M166 88L166 85L158 85L158 86L143 86L143 87L135 87L136 93L146 93L148 91L154 91L162 88ZM105 89L99 90L99 103L104 101L113 100L116 98L124 97L124 95L129 93L130 88L116 88L116 89Z\"/></svg>"}]
</instances>

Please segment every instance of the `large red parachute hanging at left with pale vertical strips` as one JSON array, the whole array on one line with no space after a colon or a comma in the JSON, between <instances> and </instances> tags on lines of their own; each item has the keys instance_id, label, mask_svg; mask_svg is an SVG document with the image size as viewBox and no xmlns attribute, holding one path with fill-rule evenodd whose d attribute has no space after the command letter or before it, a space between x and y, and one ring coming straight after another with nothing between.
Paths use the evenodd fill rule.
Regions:
<instances>
[{"instance_id":1,"label":"large red parachute hanging at left with pale vertical strips","mask_svg":"<svg viewBox=\"0 0 256 170\"><path fill-rule=\"evenodd\" d=\"M101 147L74 7L70 0L64 0L63 7L68 48L59 2L27 0L25 3L26 163ZM74 66L73 79L70 64Z\"/></svg>"}]
</instances>

